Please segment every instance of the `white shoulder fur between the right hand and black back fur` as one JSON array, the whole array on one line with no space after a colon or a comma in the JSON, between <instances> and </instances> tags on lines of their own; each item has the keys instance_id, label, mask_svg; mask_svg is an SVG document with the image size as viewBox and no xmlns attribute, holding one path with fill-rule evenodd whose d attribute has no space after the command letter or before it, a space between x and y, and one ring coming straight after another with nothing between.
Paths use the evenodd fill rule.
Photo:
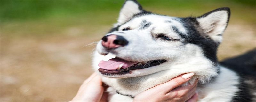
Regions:
<instances>
[{"instance_id":1,"label":"white shoulder fur between the right hand and black back fur","mask_svg":"<svg viewBox=\"0 0 256 102\"><path fill-rule=\"evenodd\" d=\"M237 84L239 77L235 72L225 67L221 67L219 77L211 84L198 87L198 101L202 102L228 102L238 91Z\"/></svg>"}]
</instances>

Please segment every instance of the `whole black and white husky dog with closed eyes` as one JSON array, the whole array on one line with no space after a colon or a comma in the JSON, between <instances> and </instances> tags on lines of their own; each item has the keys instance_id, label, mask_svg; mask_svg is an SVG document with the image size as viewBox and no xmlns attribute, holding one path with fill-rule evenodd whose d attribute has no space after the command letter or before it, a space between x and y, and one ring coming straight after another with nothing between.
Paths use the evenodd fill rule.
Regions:
<instances>
[{"instance_id":1,"label":"whole black and white husky dog with closed eyes","mask_svg":"<svg viewBox=\"0 0 256 102\"><path fill-rule=\"evenodd\" d=\"M132 101L140 92L188 72L195 76L184 85L198 79L198 101L252 101L255 91L247 85L249 80L217 61L229 18L229 8L179 18L125 1L93 58L95 71L110 86L109 101Z\"/></svg>"}]
</instances>

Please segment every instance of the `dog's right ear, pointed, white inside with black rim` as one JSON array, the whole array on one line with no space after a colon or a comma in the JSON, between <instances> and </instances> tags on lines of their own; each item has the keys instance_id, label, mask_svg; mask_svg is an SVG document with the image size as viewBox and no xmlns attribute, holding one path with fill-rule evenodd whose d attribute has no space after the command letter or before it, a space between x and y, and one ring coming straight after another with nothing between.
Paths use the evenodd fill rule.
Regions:
<instances>
[{"instance_id":1,"label":"dog's right ear, pointed, white inside with black rim","mask_svg":"<svg viewBox=\"0 0 256 102\"><path fill-rule=\"evenodd\" d=\"M199 26L207 36L211 37L214 41L221 43L222 34L228 25L229 18L230 9L225 7L210 11L197 17L196 20L199 22Z\"/></svg>"}]
</instances>

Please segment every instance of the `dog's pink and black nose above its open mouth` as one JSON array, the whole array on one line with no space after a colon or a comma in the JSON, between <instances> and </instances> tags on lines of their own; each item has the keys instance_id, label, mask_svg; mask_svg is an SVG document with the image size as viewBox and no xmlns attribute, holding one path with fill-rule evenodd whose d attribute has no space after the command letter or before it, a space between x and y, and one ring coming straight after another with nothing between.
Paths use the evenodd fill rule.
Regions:
<instances>
[{"instance_id":1,"label":"dog's pink and black nose above its open mouth","mask_svg":"<svg viewBox=\"0 0 256 102\"><path fill-rule=\"evenodd\" d=\"M112 40L112 39L110 39L110 38L113 38L113 37L110 37L110 36L115 36L115 40L113 41L113 43L116 44L116 45L125 46L125 45L127 45L127 44L129 43L123 36L114 35L114 34L104 36L104 37L102 38L102 40L103 40L104 42L109 42L109 40ZM111 42L112 42L112 41L111 41Z\"/></svg>"}]
</instances>

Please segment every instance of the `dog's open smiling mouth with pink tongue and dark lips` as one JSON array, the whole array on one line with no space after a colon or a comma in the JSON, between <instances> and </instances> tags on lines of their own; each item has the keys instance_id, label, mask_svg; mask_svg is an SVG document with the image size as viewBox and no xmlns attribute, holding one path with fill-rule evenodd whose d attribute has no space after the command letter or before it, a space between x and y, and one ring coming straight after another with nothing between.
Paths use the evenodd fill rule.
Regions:
<instances>
[{"instance_id":1,"label":"dog's open smiling mouth with pink tongue and dark lips","mask_svg":"<svg viewBox=\"0 0 256 102\"><path fill-rule=\"evenodd\" d=\"M126 74L130 70L144 69L152 66L160 65L166 60L151 60L144 62L126 61L121 58L112 58L108 61L101 61L99 63L99 72L104 75Z\"/></svg>"}]
</instances>

